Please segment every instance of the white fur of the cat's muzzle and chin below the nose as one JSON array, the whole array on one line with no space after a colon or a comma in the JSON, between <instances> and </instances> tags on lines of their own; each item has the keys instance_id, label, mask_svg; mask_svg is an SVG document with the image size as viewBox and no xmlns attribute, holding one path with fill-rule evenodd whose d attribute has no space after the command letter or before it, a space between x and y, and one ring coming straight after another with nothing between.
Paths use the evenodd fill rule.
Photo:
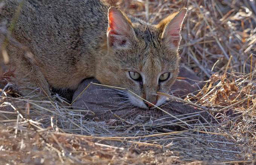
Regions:
<instances>
[{"instance_id":1,"label":"white fur of the cat's muzzle and chin below the nose","mask_svg":"<svg viewBox=\"0 0 256 165\"><path fill-rule=\"evenodd\" d=\"M133 96L133 95L130 95L130 96L129 96L129 100L130 100L131 104L133 104L133 105L136 106L136 107L143 108L143 109L149 109L149 108L145 105L145 103L143 102L143 100L140 99L140 98L137 98L137 97L135 97L135 96ZM160 99L157 101L157 104L155 104L155 106L160 107L160 106L163 105L165 102L166 102L166 97L165 97L165 96L160 96ZM150 108L150 109L152 110L152 109L157 108L157 107L155 107L155 106L152 107L152 108Z\"/></svg>"}]
</instances>

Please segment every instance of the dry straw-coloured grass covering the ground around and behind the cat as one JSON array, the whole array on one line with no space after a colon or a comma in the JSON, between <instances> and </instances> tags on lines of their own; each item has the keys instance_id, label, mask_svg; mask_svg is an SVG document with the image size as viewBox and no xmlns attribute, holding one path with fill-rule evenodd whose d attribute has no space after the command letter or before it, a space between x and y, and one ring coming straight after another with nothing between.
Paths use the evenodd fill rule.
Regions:
<instances>
[{"instance_id":1,"label":"dry straw-coloured grass covering the ground around and behind the cat","mask_svg":"<svg viewBox=\"0 0 256 165\"><path fill-rule=\"evenodd\" d=\"M255 0L115 2L152 23L189 9L181 61L207 83L186 101L211 108L219 123L164 133L150 123L111 126L84 120L58 96L14 98L4 88L0 164L256 164Z\"/></svg>"}]
</instances>

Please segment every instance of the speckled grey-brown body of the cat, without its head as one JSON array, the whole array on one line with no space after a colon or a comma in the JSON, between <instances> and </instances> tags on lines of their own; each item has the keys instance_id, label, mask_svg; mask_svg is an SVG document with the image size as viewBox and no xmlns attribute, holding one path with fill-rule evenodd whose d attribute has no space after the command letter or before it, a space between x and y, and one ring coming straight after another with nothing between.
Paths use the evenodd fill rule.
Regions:
<instances>
[{"instance_id":1,"label":"speckled grey-brown body of the cat, without its head","mask_svg":"<svg viewBox=\"0 0 256 165\"><path fill-rule=\"evenodd\" d=\"M84 78L95 75L95 54L103 55L101 46L107 42L109 7L95 0L33 1L24 2L13 36L34 54L38 70L50 86L75 89ZM5 7L1 17L12 10L11 23L18 1L8 0ZM15 61L29 70L22 56L22 52L15 53Z\"/></svg>"}]
</instances>

